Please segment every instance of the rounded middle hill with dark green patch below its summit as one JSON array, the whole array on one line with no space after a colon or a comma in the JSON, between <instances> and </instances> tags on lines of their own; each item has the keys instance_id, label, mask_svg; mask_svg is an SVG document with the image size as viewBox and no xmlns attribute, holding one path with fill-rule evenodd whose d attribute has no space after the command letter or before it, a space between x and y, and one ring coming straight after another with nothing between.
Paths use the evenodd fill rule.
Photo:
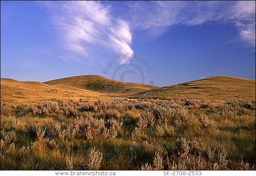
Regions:
<instances>
[{"instance_id":1,"label":"rounded middle hill with dark green patch below its summit","mask_svg":"<svg viewBox=\"0 0 256 176\"><path fill-rule=\"evenodd\" d=\"M72 76L68 78L46 81L44 83L52 86L76 87L79 89L91 90L94 92L107 93L111 95L126 95L159 88L147 84L116 81L99 75Z\"/></svg>"}]
</instances>

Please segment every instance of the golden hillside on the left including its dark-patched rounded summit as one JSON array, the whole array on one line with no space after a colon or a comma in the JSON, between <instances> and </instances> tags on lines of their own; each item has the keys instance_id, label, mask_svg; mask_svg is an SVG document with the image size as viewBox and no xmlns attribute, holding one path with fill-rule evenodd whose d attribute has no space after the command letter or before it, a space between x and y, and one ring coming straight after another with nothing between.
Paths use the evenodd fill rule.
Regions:
<instances>
[{"instance_id":1,"label":"golden hillside on the left including its dark-patched rounded summit","mask_svg":"<svg viewBox=\"0 0 256 176\"><path fill-rule=\"evenodd\" d=\"M152 88L159 87L116 81L98 75L73 76L44 83L1 78L1 103L109 99L113 95L130 95Z\"/></svg>"}]
</instances>

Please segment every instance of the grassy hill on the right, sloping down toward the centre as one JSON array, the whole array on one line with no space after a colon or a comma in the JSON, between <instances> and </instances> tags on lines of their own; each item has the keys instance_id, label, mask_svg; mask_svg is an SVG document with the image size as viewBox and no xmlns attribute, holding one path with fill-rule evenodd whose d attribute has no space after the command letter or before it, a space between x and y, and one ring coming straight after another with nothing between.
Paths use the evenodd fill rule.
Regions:
<instances>
[{"instance_id":1,"label":"grassy hill on the right, sloping down toward the centre","mask_svg":"<svg viewBox=\"0 0 256 176\"><path fill-rule=\"evenodd\" d=\"M134 96L163 99L255 100L255 80L231 76L213 76L139 92Z\"/></svg>"}]
</instances>

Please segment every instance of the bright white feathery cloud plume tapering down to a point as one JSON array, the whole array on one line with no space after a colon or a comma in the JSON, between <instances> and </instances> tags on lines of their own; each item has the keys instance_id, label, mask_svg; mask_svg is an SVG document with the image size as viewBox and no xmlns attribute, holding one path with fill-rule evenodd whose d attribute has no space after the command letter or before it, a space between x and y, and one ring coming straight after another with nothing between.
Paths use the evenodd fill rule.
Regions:
<instances>
[{"instance_id":1,"label":"bright white feathery cloud plume tapering down to a point","mask_svg":"<svg viewBox=\"0 0 256 176\"><path fill-rule=\"evenodd\" d=\"M63 39L63 48L88 56L89 46L107 47L132 56L129 25L111 14L110 7L100 1L65 1L47 3L52 20ZM128 57L129 59L129 57ZM121 60L125 63L128 59Z\"/></svg>"}]
</instances>

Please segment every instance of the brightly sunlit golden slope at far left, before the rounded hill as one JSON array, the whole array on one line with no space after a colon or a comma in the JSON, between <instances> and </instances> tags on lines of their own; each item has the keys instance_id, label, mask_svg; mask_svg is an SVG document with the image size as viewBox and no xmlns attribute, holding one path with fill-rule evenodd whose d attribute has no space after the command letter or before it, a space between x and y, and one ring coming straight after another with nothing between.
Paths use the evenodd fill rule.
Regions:
<instances>
[{"instance_id":1,"label":"brightly sunlit golden slope at far left, before the rounded hill","mask_svg":"<svg viewBox=\"0 0 256 176\"><path fill-rule=\"evenodd\" d=\"M46 100L73 99L79 98L105 98L98 92L92 92L76 87L50 86L37 81L15 81L1 78L1 103L28 103Z\"/></svg>"}]
</instances>

